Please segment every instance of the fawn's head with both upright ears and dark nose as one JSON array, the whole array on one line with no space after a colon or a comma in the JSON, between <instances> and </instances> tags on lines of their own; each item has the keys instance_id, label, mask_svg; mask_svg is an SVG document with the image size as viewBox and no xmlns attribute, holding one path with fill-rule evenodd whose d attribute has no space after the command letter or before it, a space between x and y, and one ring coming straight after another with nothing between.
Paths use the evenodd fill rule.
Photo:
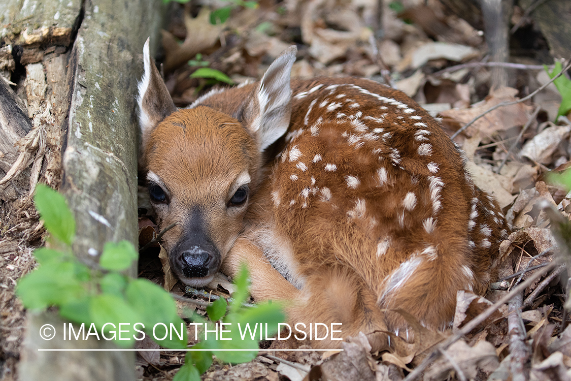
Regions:
<instances>
[{"instance_id":1,"label":"fawn's head with both upright ears and dark nose","mask_svg":"<svg viewBox=\"0 0 571 381\"><path fill-rule=\"evenodd\" d=\"M259 83L207 97L211 107L178 110L145 43L139 171L159 227L176 223L163 244L184 283L210 282L243 230L262 152L289 125L295 54L295 46L284 51Z\"/></svg>"}]
</instances>

